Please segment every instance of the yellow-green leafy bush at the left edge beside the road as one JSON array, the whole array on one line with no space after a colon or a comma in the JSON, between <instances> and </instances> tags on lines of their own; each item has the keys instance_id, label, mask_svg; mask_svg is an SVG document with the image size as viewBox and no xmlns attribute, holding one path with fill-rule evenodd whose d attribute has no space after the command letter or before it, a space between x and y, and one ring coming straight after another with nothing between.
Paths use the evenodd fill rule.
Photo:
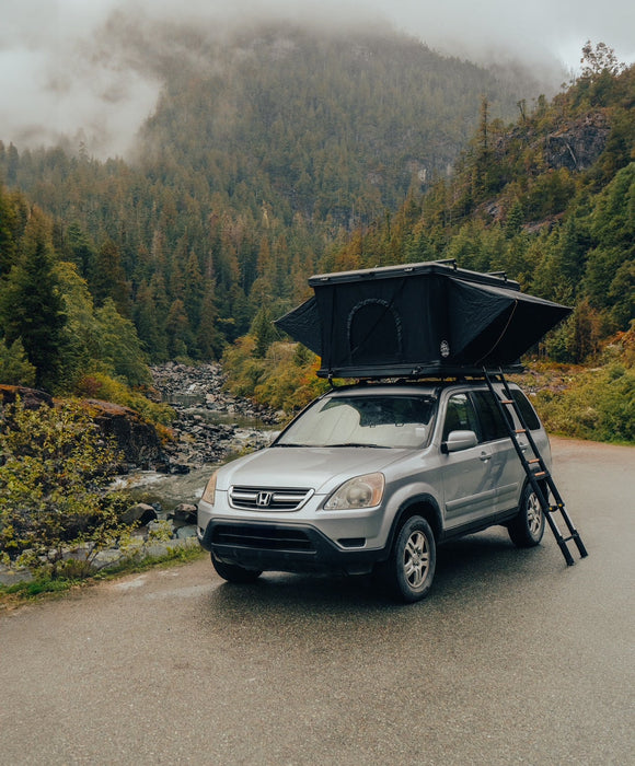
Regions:
<instances>
[{"instance_id":1,"label":"yellow-green leafy bush at the left edge beside the road","mask_svg":"<svg viewBox=\"0 0 635 766\"><path fill-rule=\"evenodd\" d=\"M126 538L128 499L108 491L120 455L77 404L25 409L19 401L0 420L0 556L65 571L68 554L90 564ZM74 565L88 571L90 567Z\"/></svg>"}]
</instances>

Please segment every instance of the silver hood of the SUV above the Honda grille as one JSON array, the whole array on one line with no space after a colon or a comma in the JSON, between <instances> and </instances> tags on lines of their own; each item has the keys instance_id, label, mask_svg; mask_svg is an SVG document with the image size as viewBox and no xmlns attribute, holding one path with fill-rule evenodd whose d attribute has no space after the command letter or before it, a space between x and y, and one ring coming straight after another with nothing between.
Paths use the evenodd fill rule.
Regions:
<instances>
[{"instance_id":1,"label":"silver hood of the SUV above the Honda grille","mask_svg":"<svg viewBox=\"0 0 635 766\"><path fill-rule=\"evenodd\" d=\"M349 446L270 446L219 469L217 489L289 487L333 491L354 476L382 471L409 450Z\"/></svg>"}]
</instances>

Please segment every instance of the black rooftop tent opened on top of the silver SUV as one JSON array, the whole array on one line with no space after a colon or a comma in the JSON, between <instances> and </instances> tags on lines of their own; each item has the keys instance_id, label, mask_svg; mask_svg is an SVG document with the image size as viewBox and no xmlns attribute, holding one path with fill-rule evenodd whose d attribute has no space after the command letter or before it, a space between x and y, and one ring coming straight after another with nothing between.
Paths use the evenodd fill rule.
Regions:
<instances>
[{"instance_id":1,"label":"black rooftop tent opened on top of the silver SUV","mask_svg":"<svg viewBox=\"0 0 635 766\"><path fill-rule=\"evenodd\" d=\"M314 298L276 325L322 358L321 376L508 371L570 312L453 262L325 274L309 285Z\"/></svg>"}]
</instances>

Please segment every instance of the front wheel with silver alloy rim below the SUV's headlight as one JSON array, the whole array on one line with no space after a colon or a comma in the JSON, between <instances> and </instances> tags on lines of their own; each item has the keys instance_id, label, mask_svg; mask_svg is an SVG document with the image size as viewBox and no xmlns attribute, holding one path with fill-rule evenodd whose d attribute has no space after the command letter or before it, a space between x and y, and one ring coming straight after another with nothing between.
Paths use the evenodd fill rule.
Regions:
<instances>
[{"instance_id":1,"label":"front wheel with silver alloy rim below the SUV's headlight","mask_svg":"<svg viewBox=\"0 0 635 766\"><path fill-rule=\"evenodd\" d=\"M424 599L432 584L437 565L437 544L423 517L412 517L399 531L389 560L382 568L383 580L397 601L413 603Z\"/></svg>"}]
</instances>

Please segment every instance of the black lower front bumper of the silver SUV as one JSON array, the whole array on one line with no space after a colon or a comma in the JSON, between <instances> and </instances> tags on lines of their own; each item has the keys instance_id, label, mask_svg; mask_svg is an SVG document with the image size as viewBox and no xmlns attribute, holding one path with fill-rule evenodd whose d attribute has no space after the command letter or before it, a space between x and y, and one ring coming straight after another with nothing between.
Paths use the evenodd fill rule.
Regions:
<instances>
[{"instance_id":1,"label":"black lower front bumper of the silver SUV","mask_svg":"<svg viewBox=\"0 0 635 766\"><path fill-rule=\"evenodd\" d=\"M385 558L383 549L366 548L365 537L336 545L310 524L211 519L199 541L221 561L262 571L361 574Z\"/></svg>"}]
</instances>

